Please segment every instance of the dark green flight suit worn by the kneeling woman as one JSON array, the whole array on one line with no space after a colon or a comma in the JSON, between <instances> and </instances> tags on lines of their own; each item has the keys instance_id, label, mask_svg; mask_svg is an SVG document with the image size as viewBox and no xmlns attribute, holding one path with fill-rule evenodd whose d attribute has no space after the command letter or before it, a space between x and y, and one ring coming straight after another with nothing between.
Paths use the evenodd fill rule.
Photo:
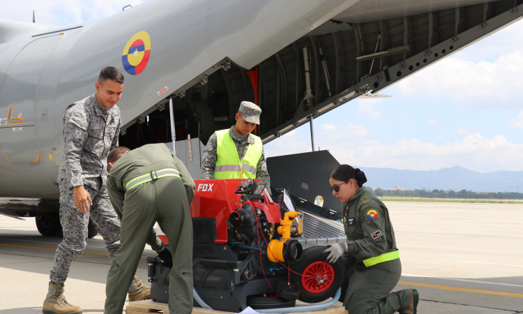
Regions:
<instances>
[{"instance_id":1,"label":"dark green flight suit worn by the kneeling woman","mask_svg":"<svg viewBox=\"0 0 523 314\"><path fill-rule=\"evenodd\" d=\"M389 293L400 280L400 259L370 267L363 263L370 257L397 251L387 207L360 188L343 209L348 246L342 255L346 274L342 283L343 305L349 314L391 314L406 308L410 300L408 289Z\"/></svg>"}]
</instances>

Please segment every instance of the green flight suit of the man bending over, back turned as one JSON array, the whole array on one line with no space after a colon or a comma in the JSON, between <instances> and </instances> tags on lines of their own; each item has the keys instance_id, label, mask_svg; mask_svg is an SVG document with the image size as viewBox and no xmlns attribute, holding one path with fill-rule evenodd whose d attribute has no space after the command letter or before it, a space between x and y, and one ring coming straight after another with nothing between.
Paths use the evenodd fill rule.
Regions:
<instances>
[{"instance_id":1,"label":"green flight suit of the man bending over, back turned","mask_svg":"<svg viewBox=\"0 0 523 314\"><path fill-rule=\"evenodd\" d=\"M126 191L132 179L162 169L179 177L160 177ZM153 226L158 221L172 251L169 313L192 312L192 220L190 203L195 182L165 144L148 144L129 151L114 163L107 179L111 203L121 220L121 247L107 274L105 314L121 314L145 244L160 241Z\"/></svg>"}]
</instances>

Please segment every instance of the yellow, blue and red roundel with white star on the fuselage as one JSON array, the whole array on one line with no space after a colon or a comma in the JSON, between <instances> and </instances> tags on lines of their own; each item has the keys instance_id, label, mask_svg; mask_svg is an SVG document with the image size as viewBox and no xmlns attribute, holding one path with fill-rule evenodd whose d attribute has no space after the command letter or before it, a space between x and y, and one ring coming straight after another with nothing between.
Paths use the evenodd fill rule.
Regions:
<instances>
[{"instance_id":1,"label":"yellow, blue and red roundel with white star on the fuselage","mask_svg":"<svg viewBox=\"0 0 523 314\"><path fill-rule=\"evenodd\" d=\"M149 62L151 55L151 38L146 31L133 35L123 48L121 62L130 75L139 75Z\"/></svg>"}]
</instances>

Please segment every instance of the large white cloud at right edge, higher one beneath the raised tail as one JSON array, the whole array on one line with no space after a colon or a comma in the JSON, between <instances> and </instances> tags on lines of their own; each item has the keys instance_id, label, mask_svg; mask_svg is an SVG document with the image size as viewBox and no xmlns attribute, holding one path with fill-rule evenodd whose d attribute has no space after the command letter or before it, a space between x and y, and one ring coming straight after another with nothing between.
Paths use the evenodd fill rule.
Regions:
<instances>
[{"instance_id":1,"label":"large white cloud at right edge, higher one beneath the raised tail","mask_svg":"<svg viewBox=\"0 0 523 314\"><path fill-rule=\"evenodd\" d=\"M476 108L521 107L523 75L515 64L523 64L523 47L489 61L470 61L457 57L420 70L397 83L395 96L450 97Z\"/></svg>"}]
</instances>

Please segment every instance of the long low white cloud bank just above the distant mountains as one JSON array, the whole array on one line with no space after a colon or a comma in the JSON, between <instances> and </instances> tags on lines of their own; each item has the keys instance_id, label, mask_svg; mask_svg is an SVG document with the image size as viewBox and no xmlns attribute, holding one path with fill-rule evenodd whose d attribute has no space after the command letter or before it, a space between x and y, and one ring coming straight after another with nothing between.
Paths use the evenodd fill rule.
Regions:
<instances>
[{"instance_id":1,"label":"long low white cloud bank just above the distant mountains","mask_svg":"<svg viewBox=\"0 0 523 314\"><path fill-rule=\"evenodd\" d=\"M364 167L390 167L409 170L439 170L454 165L467 165L478 171L523 170L523 144L508 142L499 135L486 139L473 133L462 141L422 142L416 138L402 139L393 144L378 141L357 145L330 147L340 163Z\"/></svg>"}]
</instances>

